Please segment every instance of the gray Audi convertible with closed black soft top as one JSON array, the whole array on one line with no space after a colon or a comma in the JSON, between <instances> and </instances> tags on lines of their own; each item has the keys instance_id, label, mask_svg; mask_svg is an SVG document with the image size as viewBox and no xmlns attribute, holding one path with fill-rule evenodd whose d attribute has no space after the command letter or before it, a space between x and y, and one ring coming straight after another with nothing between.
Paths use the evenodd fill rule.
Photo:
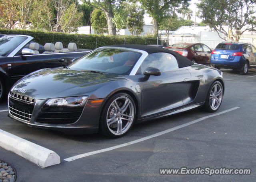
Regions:
<instances>
[{"instance_id":1,"label":"gray Audi convertible with closed black soft top","mask_svg":"<svg viewBox=\"0 0 256 182\"><path fill-rule=\"evenodd\" d=\"M200 106L216 112L223 94L220 70L168 49L114 45L20 79L8 115L31 127L121 137L145 120Z\"/></svg>"}]
</instances>

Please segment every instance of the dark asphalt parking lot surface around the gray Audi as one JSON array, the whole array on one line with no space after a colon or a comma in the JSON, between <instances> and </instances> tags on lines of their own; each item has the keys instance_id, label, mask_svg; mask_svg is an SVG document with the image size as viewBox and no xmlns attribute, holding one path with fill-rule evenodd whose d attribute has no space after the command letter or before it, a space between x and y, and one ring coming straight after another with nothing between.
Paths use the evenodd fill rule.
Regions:
<instances>
[{"instance_id":1,"label":"dark asphalt parking lot surface around the gray Audi","mask_svg":"<svg viewBox=\"0 0 256 182\"><path fill-rule=\"evenodd\" d=\"M212 115L194 109L147 123L134 125L119 139L101 135L67 135L57 131L31 128L0 112L0 129L46 147L60 155L61 163L40 168L0 147L0 159L17 172L17 182L255 182L256 181L256 69L247 75L222 70L225 93L217 113L192 125L129 146L83 157L71 162L64 159L113 147ZM0 110L7 110L6 101ZM251 168L250 175L160 175L159 168Z\"/></svg>"}]
</instances>

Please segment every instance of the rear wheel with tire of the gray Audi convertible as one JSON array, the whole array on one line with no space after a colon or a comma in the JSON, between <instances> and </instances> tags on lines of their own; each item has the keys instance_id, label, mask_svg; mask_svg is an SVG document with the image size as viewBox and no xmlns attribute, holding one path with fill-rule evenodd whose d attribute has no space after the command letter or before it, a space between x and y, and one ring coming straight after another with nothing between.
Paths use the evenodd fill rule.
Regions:
<instances>
[{"instance_id":1,"label":"rear wheel with tire of the gray Audi convertible","mask_svg":"<svg viewBox=\"0 0 256 182\"><path fill-rule=\"evenodd\" d=\"M207 94L206 102L204 103L204 109L208 112L216 112L222 103L223 86L221 82L214 82Z\"/></svg>"}]
</instances>

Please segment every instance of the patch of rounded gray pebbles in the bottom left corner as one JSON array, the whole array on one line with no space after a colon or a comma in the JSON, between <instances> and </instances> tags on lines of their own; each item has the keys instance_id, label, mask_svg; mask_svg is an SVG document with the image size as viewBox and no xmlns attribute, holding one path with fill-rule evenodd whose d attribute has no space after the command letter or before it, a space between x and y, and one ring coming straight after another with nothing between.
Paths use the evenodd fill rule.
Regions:
<instances>
[{"instance_id":1,"label":"patch of rounded gray pebbles in the bottom left corner","mask_svg":"<svg viewBox=\"0 0 256 182\"><path fill-rule=\"evenodd\" d=\"M0 182L14 182L16 171L10 164L0 160Z\"/></svg>"}]
</instances>

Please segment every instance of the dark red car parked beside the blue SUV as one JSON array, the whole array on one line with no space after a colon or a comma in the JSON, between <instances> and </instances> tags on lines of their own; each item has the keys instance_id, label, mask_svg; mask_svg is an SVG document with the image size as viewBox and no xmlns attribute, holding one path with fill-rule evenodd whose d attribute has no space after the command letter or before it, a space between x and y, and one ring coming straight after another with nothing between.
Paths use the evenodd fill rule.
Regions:
<instances>
[{"instance_id":1,"label":"dark red car parked beside the blue SUV","mask_svg":"<svg viewBox=\"0 0 256 182\"><path fill-rule=\"evenodd\" d=\"M203 43L176 43L166 48L187 57L193 63L210 65L212 50Z\"/></svg>"}]
</instances>

